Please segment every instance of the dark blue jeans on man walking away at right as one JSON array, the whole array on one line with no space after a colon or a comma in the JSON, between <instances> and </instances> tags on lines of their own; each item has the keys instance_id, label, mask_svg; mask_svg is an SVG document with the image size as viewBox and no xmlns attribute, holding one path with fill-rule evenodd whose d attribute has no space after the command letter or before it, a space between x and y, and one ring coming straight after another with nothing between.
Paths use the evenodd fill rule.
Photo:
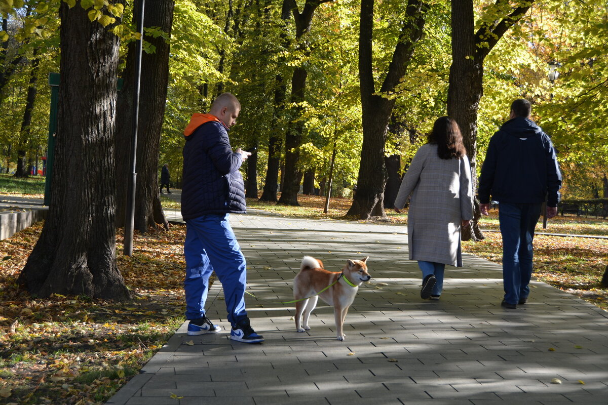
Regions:
<instances>
[{"instance_id":1,"label":"dark blue jeans on man walking away at right","mask_svg":"<svg viewBox=\"0 0 608 405\"><path fill-rule=\"evenodd\" d=\"M530 294L532 276L532 241L541 216L541 203L499 204L502 234L502 277L505 301L517 304Z\"/></svg>"}]
</instances>

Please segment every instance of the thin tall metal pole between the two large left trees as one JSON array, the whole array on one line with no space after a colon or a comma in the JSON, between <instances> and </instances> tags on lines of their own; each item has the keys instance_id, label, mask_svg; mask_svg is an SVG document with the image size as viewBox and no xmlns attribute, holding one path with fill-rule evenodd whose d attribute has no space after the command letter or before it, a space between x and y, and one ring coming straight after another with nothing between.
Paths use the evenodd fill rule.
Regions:
<instances>
[{"instance_id":1,"label":"thin tall metal pole between the two large left trees","mask_svg":"<svg viewBox=\"0 0 608 405\"><path fill-rule=\"evenodd\" d=\"M135 81L133 86L133 134L131 134L131 157L130 169L131 176L129 183L126 186L126 216L125 216L125 248L123 253L126 256L133 256L133 226L135 223L135 185L137 183L137 173L135 172L135 163L137 156L137 120L139 120L139 81L142 75L142 43L143 43L143 7L145 0L140 0L139 3L139 21L137 22L137 39L135 53Z\"/></svg>"}]
</instances>

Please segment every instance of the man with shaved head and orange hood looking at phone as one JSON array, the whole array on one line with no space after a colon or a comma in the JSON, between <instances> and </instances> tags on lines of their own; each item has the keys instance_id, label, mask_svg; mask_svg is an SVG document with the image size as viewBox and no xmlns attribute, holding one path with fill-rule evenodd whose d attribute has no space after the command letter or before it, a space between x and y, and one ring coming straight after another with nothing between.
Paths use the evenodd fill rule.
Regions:
<instances>
[{"instance_id":1,"label":"man with shaved head and orange hood looking at phone","mask_svg":"<svg viewBox=\"0 0 608 405\"><path fill-rule=\"evenodd\" d=\"M230 227L229 213L246 210L243 177L238 169L250 155L230 147L227 130L237 122L241 104L230 93L213 101L209 114L194 114L184 130L182 217L186 222L184 281L188 335L217 333L205 315L209 276L224 288L230 339L261 342L245 310L246 262Z\"/></svg>"}]
</instances>

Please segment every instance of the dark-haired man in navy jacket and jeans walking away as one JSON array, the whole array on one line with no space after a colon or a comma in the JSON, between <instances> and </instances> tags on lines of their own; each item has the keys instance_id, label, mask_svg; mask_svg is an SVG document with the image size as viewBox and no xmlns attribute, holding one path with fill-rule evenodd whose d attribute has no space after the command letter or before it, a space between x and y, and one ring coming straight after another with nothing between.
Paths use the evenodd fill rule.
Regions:
<instances>
[{"instance_id":1,"label":"dark-haired man in navy jacket and jeans walking away","mask_svg":"<svg viewBox=\"0 0 608 405\"><path fill-rule=\"evenodd\" d=\"M530 294L534 228L547 200L547 217L558 213L562 175L553 143L530 120L528 100L511 104L509 120L490 139L479 177L479 202L488 215L490 195L499 202L502 234L502 275L505 297L501 305L517 308Z\"/></svg>"}]
</instances>

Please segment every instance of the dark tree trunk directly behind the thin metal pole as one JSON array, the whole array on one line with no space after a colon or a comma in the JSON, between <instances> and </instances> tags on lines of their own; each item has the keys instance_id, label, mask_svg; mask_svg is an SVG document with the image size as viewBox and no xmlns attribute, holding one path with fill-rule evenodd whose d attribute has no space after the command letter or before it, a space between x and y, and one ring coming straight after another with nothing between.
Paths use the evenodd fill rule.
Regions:
<instances>
[{"instance_id":1,"label":"dark tree trunk directly behind the thin metal pole","mask_svg":"<svg viewBox=\"0 0 608 405\"><path fill-rule=\"evenodd\" d=\"M134 9L139 10L137 0ZM171 35L174 0L146 2L143 26L160 27ZM136 21L139 16L135 16ZM146 36L156 52L142 54L140 78L139 120L137 123L137 183L135 192L134 228L147 232L148 226L159 223L168 230L168 222L161 205L158 183L158 158L161 130L167 100L169 75L169 44L161 36ZM131 43L123 72L123 87L119 94L116 136L117 226L125 226L127 185L131 176L130 154L133 133L133 89L135 79L136 46Z\"/></svg>"}]
</instances>

